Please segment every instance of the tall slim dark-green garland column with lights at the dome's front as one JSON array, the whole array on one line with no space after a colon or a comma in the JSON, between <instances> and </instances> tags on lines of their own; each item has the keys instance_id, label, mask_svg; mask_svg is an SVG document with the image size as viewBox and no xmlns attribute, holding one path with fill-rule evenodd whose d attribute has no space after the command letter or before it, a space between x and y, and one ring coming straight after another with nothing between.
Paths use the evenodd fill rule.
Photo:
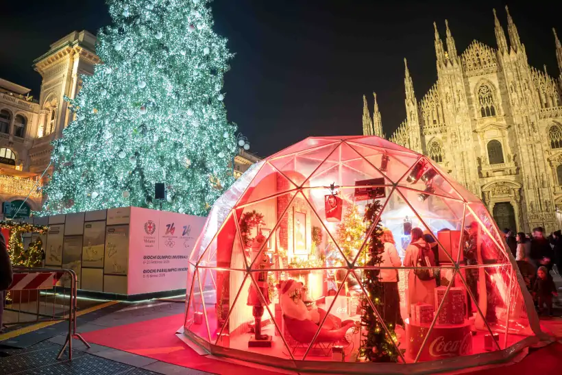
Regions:
<instances>
[{"instance_id":1,"label":"tall slim dark-green garland column with lights at the dome's front","mask_svg":"<svg viewBox=\"0 0 562 375\"><path fill-rule=\"evenodd\" d=\"M378 219L380 213L380 202L374 201L367 204L365 210L365 222L368 228L374 226L368 243L365 245L369 252L369 261L366 267L379 267L382 263L382 252L384 245L380 241L382 236L382 228ZM378 221L376 221L378 220ZM393 341L396 340L394 327L391 324L385 324L378 319L375 311L371 307L371 303L377 311L383 311L382 295L384 287L379 278L380 269L363 270L363 288L367 295L363 297L361 302L363 315L361 316L361 326L364 328L363 340L361 341L361 356L370 362L396 362L398 361L398 351ZM370 300L370 302L369 302ZM384 329L386 325L387 330Z\"/></svg>"}]
</instances>

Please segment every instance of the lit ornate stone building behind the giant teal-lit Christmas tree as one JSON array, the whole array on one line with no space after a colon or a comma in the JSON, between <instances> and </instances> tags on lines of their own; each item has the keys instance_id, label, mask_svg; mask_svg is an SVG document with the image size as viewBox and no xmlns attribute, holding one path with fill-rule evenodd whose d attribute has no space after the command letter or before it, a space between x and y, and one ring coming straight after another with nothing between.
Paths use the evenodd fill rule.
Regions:
<instances>
[{"instance_id":1,"label":"lit ornate stone building behind the giant teal-lit Christmas tree","mask_svg":"<svg viewBox=\"0 0 562 375\"><path fill-rule=\"evenodd\" d=\"M29 95L29 88L0 78L0 217L11 217L13 207L26 197L27 214L40 209L41 186L49 177L51 141L73 120L64 98L74 99L82 88L80 77L93 74L94 65L101 63L95 44L96 37L87 31L71 32L51 44L34 61L42 77L38 100ZM240 147L234 158L234 177L258 160Z\"/></svg>"}]
</instances>

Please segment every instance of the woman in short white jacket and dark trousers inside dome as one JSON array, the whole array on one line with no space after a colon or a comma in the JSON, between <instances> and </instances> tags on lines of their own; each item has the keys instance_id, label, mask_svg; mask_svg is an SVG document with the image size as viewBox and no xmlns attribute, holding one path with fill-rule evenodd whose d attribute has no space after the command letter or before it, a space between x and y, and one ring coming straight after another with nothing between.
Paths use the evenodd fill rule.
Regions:
<instances>
[{"instance_id":1,"label":"woman in short white jacket and dark trousers inside dome","mask_svg":"<svg viewBox=\"0 0 562 375\"><path fill-rule=\"evenodd\" d=\"M394 237L388 228L382 230L380 241L384 243L384 252L382 253L382 262L380 267L402 267L402 261L396 250ZM382 311L382 319L389 326L396 324L403 325L402 316L400 316L400 294L398 293L398 269L381 269L380 280L384 286L384 298L382 303L384 309Z\"/></svg>"}]
</instances>

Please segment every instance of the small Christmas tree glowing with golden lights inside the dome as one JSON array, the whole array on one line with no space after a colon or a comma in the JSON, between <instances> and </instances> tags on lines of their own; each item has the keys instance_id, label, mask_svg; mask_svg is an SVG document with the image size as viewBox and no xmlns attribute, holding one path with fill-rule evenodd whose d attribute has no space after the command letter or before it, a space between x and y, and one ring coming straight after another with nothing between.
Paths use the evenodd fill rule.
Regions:
<instances>
[{"instance_id":1,"label":"small Christmas tree glowing with golden lights inside the dome","mask_svg":"<svg viewBox=\"0 0 562 375\"><path fill-rule=\"evenodd\" d=\"M365 241L365 223L357 206L350 204L337 228L338 245L345 258L352 262ZM358 263L361 263L361 256ZM345 262L344 262L345 263Z\"/></svg>"}]
</instances>

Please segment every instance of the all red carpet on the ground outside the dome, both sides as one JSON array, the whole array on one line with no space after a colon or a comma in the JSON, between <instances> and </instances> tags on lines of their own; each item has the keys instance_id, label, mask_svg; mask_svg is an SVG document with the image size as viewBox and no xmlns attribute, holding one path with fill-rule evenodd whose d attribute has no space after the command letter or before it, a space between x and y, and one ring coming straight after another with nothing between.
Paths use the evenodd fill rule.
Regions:
<instances>
[{"instance_id":1,"label":"all red carpet on the ground outside the dome, both sides","mask_svg":"<svg viewBox=\"0 0 562 375\"><path fill-rule=\"evenodd\" d=\"M185 343L175 337L175 331L183 324L184 315L152 319L96 330L84 333L90 343L108 346L125 352L147 356L158 361L173 363L196 370L215 374L246 374L255 372L254 367L237 365L201 356ZM519 363L494 367L487 370L475 370L478 375L513 375L513 374L559 374L562 368L562 344L552 343L545 348L535 350ZM278 372L258 370L260 375L280 375Z\"/></svg>"}]
</instances>

